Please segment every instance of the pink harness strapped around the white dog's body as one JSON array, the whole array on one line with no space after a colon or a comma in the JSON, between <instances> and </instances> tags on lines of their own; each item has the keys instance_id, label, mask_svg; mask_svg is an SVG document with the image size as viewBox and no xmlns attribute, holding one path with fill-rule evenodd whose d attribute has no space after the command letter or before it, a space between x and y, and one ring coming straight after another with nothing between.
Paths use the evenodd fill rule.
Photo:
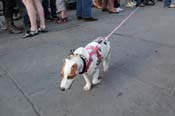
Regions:
<instances>
[{"instance_id":1,"label":"pink harness strapped around the white dog's body","mask_svg":"<svg viewBox=\"0 0 175 116\"><path fill-rule=\"evenodd\" d=\"M88 63L86 64L86 70L85 70L85 72L87 72L89 67L90 67L90 65L91 65L91 63L92 63L92 61L93 61L92 56L93 55L97 55L98 60L101 61L101 55L100 55L100 53L98 51L99 50L99 46L98 45L96 45L96 46L88 46L85 49L90 51L89 52L89 60L88 60Z\"/></svg>"}]
</instances>

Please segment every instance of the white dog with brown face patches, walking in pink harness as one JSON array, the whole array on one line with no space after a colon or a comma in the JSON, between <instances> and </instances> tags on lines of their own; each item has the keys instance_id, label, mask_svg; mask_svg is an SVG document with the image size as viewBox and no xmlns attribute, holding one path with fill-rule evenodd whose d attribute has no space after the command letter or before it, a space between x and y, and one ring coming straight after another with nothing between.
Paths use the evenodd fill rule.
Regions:
<instances>
[{"instance_id":1,"label":"white dog with brown face patches, walking in pink harness","mask_svg":"<svg viewBox=\"0 0 175 116\"><path fill-rule=\"evenodd\" d=\"M71 87L75 77L82 74L86 82L84 90L91 89L92 84L101 82L99 79L99 64L102 63L103 72L108 70L109 57L111 53L110 42L98 37L85 47L77 48L68 58L64 59L61 69L61 85L62 91ZM90 81L92 76L92 83Z\"/></svg>"}]
</instances>

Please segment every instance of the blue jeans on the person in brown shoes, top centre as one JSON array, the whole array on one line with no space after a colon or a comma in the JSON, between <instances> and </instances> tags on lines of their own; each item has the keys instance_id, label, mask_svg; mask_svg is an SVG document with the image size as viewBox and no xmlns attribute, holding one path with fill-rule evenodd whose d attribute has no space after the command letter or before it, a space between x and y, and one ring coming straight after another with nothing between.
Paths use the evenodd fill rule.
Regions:
<instances>
[{"instance_id":1,"label":"blue jeans on the person in brown shoes, top centre","mask_svg":"<svg viewBox=\"0 0 175 116\"><path fill-rule=\"evenodd\" d=\"M91 0L77 0L76 15L77 17L90 18L92 17L91 12Z\"/></svg>"}]
</instances>

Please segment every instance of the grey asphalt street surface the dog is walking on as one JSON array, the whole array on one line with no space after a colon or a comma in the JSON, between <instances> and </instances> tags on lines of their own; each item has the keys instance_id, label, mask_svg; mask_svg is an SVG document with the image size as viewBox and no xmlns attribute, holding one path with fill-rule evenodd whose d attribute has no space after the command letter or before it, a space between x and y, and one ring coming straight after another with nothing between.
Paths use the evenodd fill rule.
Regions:
<instances>
[{"instance_id":1,"label":"grey asphalt street surface the dog is walking on","mask_svg":"<svg viewBox=\"0 0 175 116\"><path fill-rule=\"evenodd\" d=\"M109 38L109 71L98 86L84 92L78 76L59 89L69 50L107 36L134 9L93 9L97 22L68 11L68 23L47 22L49 32L32 38L0 32L0 116L174 116L175 9L162 2L139 8Z\"/></svg>"}]
</instances>

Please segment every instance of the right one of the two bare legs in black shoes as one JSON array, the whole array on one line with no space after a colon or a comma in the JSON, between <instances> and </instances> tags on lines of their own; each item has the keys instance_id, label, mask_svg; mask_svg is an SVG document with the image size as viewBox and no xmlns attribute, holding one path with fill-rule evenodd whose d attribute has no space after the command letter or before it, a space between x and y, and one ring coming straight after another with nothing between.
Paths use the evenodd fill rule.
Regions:
<instances>
[{"instance_id":1,"label":"right one of the two bare legs in black shoes","mask_svg":"<svg viewBox=\"0 0 175 116\"><path fill-rule=\"evenodd\" d=\"M44 11L43 11L43 7L41 5L41 1L40 0L34 0L34 4L35 4L35 8L37 10L37 14L38 14L39 19L40 19L40 28L45 29L46 24L45 24Z\"/></svg>"}]
</instances>

